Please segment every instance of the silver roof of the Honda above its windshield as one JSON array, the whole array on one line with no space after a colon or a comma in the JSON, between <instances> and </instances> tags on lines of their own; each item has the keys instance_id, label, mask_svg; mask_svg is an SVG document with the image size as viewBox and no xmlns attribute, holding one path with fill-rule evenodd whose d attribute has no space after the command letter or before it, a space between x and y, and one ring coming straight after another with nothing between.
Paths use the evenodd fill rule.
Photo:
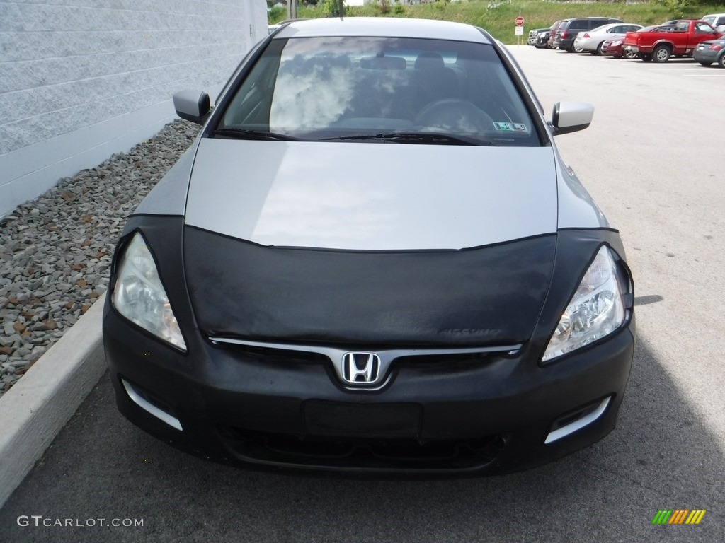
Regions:
<instances>
[{"instance_id":1,"label":"silver roof of the Honda above its windshield","mask_svg":"<svg viewBox=\"0 0 725 543\"><path fill-rule=\"evenodd\" d=\"M491 43L481 31L471 25L429 19L402 17L329 17L297 20L280 30L276 38L313 38L323 36L431 38L453 41Z\"/></svg>"}]
</instances>

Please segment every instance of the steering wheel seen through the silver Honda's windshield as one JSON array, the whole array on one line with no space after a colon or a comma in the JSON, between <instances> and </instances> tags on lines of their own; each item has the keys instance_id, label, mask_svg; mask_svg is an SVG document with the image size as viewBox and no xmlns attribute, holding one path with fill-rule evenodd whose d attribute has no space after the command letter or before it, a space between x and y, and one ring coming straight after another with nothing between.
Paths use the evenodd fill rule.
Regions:
<instances>
[{"instance_id":1,"label":"steering wheel seen through the silver Honda's windshield","mask_svg":"<svg viewBox=\"0 0 725 543\"><path fill-rule=\"evenodd\" d=\"M471 102L444 98L423 106L413 119L416 125L459 132L492 132L494 120Z\"/></svg>"}]
</instances>

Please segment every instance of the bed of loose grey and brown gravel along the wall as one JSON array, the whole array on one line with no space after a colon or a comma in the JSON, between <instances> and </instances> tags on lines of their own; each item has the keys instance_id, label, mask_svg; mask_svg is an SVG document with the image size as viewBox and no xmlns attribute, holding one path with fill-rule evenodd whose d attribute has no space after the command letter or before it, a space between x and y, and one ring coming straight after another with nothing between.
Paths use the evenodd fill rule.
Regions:
<instances>
[{"instance_id":1,"label":"bed of loose grey and brown gravel along the wall","mask_svg":"<svg viewBox=\"0 0 725 543\"><path fill-rule=\"evenodd\" d=\"M107 290L126 218L199 128L172 122L0 219L0 397Z\"/></svg>"}]
</instances>

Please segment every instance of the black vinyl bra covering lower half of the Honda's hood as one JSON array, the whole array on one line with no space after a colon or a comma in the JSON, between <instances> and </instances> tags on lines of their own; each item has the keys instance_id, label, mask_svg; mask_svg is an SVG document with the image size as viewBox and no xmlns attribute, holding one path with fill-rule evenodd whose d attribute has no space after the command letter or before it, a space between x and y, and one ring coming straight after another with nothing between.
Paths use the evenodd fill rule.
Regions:
<instances>
[{"instance_id":1,"label":"black vinyl bra covering lower half of the Honda's hood","mask_svg":"<svg viewBox=\"0 0 725 543\"><path fill-rule=\"evenodd\" d=\"M556 235L463 251L326 251L184 232L205 334L346 345L497 345L531 337Z\"/></svg>"}]
</instances>

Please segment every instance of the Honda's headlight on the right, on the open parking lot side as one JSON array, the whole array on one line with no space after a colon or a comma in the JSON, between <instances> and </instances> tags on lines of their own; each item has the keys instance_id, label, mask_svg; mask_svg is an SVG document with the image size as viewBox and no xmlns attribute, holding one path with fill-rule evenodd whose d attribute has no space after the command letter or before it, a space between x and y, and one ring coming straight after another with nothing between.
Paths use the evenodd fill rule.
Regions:
<instances>
[{"instance_id":1,"label":"Honda's headlight on the right, on the open parking lot side","mask_svg":"<svg viewBox=\"0 0 725 543\"><path fill-rule=\"evenodd\" d=\"M626 321L626 285L618 279L611 249L602 245L554 330L542 362L599 340Z\"/></svg>"}]
</instances>

